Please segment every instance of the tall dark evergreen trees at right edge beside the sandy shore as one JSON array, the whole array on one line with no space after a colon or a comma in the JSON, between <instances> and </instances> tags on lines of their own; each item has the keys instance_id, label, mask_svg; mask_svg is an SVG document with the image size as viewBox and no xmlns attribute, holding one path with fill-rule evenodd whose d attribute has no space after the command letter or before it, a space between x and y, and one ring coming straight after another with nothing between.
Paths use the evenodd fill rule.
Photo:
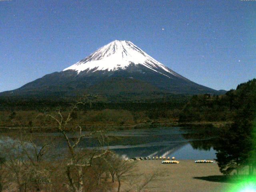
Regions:
<instances>
[{"instance_id":1,"label":"tall dark evergreen trees at right edge beside the sandy shore","mask_svg":"<svg viewBox=\"0 0 256 192\"><path fill-rule=\"evenodd\" d=\"M220 132L215 146L220 171L239 174L248 166L248 174L256 169L256 79L239 84L225 98L230 105L234 123ZM254 178L255 179L255 178Z\"/></svg>"}]
</instances>

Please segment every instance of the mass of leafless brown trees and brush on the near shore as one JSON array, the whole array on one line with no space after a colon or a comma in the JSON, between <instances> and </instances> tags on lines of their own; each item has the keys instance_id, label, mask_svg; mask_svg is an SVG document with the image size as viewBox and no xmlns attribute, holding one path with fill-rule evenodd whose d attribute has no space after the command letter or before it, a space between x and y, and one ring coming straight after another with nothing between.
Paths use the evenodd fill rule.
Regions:
<instances>
[{"instance_id":1,"label":"mass of leafless brown trees and brush on the near shore","mask_svg":"<svg viewBox=\"0 0 256 192\"><path fill-rule=\"evenodd\" d=\"M123 160L108 148L89 150L86 146L78 148L82 138L93 136L104 145L108 137L103 130L95 130L86 134L78 125L74 130L76 138L70 138L69 123L72 113L79 102L67 115L60 111L57 114L40 114L53 120L61 138L66 141L63 151L57 150L58 142L42 134L36 136L25 132L1 138L0 142L0 192L2 191L121 191L125 183L125 191L143 191L155 177L156 173L143 177L134 173L135 162ZM117 181L117 184L115 182ZM139 180L139 182L138 182Z\"/></svg>"}]
</instances>

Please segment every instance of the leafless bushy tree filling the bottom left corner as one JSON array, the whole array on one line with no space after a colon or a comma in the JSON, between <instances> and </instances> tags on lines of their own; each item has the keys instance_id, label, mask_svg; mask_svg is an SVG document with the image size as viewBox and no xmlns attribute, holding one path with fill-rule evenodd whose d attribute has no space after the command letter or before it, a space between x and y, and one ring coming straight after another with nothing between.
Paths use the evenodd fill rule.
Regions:
<instances>
[{"instance_id":1,"label":"leafless bushy tree filling the bottom left corner","mask_svg":"<svg viewBox=\"0 0 256 192\"><path fill-rule=\"evenodd\" d=\"M35 141L41 142L36 144ZM50 171L45 164L52 156L53 145L50 140L33 139L32 134L22 133L2 141L1 151L6 158L4 168L8 171L9 186L15 184L19 192L41 191L50 184Z\"/></svg>"}]
</instances>

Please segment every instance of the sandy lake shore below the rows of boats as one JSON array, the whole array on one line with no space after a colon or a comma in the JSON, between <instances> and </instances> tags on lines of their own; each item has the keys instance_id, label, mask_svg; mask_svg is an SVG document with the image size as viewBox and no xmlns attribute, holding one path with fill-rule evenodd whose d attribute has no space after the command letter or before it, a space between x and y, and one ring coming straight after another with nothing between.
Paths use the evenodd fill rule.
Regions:
<instances>
[{"instance_id":1,"label":"sandy lake shore below the rows of boats","mask_svg":"<svg viewBox=\"0 0 256 192\"><path fill-rule=\"evenodd\" d=\"M138 171L160 172L148 186L148 192L228 192L234 186L225 180L217 163L198 164L194 160L179 160L179 164L162 164L162 160L137 161ZM154 187L154 188L152 188Z\"/></svg>"}]
</instances>

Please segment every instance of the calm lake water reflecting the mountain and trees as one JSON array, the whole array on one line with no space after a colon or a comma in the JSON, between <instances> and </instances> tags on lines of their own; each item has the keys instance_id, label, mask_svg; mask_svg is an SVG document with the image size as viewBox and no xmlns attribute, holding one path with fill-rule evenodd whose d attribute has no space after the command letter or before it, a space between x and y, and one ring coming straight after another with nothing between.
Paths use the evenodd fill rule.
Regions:
<instances>
[{"instance_id":1,"label":"calm lake water reflecting the mountain and trees","mask_svg":"<svg viewBox=\"0 0 256 192\"><path fill-rule=\"evenodd\" d=\"M192 128L149 128L135 130L109 131L111 138L105 148L109 147L119 155L132 157L175 156L177 159L214 159L216 151L213 140L216 137L211 129ZM58 151L64 152L66 142L60 133L36 133L55 139ZM76 137L69 134L69 137ZM40 143L38 143L40 146ZM78 147L97 148L95 138L83 138Z\"/></svg>"}]
</instances>

